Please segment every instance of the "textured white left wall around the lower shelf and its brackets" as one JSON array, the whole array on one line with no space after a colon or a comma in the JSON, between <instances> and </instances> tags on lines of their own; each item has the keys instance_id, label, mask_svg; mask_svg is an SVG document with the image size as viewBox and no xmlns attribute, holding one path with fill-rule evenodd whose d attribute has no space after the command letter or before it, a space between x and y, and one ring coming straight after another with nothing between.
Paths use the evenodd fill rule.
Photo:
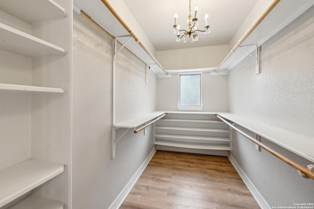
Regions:
<instances>
[{"instance_id":1,"label":"textured white left wall around the lower shelf and its brackets","mask_svg":"<svg viewBox=\"0 0 314 209\"><path fill-rule=\"evenodd\" d=\"M154 149L153 129L129 130L111 159L112 39L75 15L73 48L73 208L106 209ZM144 69L127 50L117 54L116 121L155 111L157 78L145 84Z\"/></svg>"}]
</instances>

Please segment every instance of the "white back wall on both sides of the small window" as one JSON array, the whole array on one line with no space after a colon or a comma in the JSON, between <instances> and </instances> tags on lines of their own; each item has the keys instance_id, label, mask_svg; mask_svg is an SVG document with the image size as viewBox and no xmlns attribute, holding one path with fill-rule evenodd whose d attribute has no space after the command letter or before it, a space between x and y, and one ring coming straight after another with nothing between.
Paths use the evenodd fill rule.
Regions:
<instances>
[{"instance_id":1,"label":"white back wall on both sides of the small window","mask_svg":"<svg viewBox=\"0 0 314 209\"><path fill-rule=\"evenodd\" d=\"M228 111L228 76L202 74L203 112ZM179 111L179 75L157 79L157 109Z\"/></svg>"}]
</instances>

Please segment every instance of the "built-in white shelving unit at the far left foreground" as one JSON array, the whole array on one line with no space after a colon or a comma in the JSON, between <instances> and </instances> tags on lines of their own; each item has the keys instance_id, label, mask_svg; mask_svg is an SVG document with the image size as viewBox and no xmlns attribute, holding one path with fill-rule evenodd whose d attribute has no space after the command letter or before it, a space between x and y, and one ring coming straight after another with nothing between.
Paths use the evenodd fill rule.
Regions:
<instances>
[{"instance_id":1,"label":"built-in white shelving unit at the far left foreground","mask_svg":"<svg viewBox=\"0 0 314 209\"><path fill-rule=\"evenodd\" d=\"M71 208L72 1L1 0L0 10L0 207Z\"/></svg>"}]
</instances>

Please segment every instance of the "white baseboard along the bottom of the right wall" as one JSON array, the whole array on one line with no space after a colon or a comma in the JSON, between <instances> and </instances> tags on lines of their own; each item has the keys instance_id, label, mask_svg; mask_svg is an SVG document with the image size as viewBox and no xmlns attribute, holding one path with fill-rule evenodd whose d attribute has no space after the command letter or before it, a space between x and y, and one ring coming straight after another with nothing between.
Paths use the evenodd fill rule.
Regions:
<instances>
[{"instance_id":1,"label":"white baseboard along the bottom of the right wall","mask_svg":"<svg viewBox=\"0 0 314 209\"><path fill-rule=\"evenodd\" d=\"M242 178L244 184L248 187L248 189L250 190L250 192L252 193L252 195L255 198L256 202L260 205L260 207L262 209L271 209L270 206L265 201L265 199L262 197L261 193L253 185L251 180L247 177L247 175L244 173L244 171L240 168L238 163L236 163L235 159L231 155L228 155L228 159L234 165L235 170L238 172L238 174Z\"/></svg>"}]
</instances>

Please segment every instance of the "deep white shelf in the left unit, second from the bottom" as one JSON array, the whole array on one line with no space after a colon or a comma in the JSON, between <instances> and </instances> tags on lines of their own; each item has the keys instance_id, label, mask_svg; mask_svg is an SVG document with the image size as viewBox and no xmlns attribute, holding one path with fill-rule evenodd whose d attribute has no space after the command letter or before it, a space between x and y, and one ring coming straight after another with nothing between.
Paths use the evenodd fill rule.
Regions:
<instances>
[{"instance_id":1,"label":"deep white shelf in the left unit, second from the bottom","mask_svg":"<svg viewBox=\"0 0 314 209\"><path fill-rule=\"evenodd\" d=\"M63 172L64 165L29 159L0 170L0 207Z\"/></svg>"}]
</instances>

